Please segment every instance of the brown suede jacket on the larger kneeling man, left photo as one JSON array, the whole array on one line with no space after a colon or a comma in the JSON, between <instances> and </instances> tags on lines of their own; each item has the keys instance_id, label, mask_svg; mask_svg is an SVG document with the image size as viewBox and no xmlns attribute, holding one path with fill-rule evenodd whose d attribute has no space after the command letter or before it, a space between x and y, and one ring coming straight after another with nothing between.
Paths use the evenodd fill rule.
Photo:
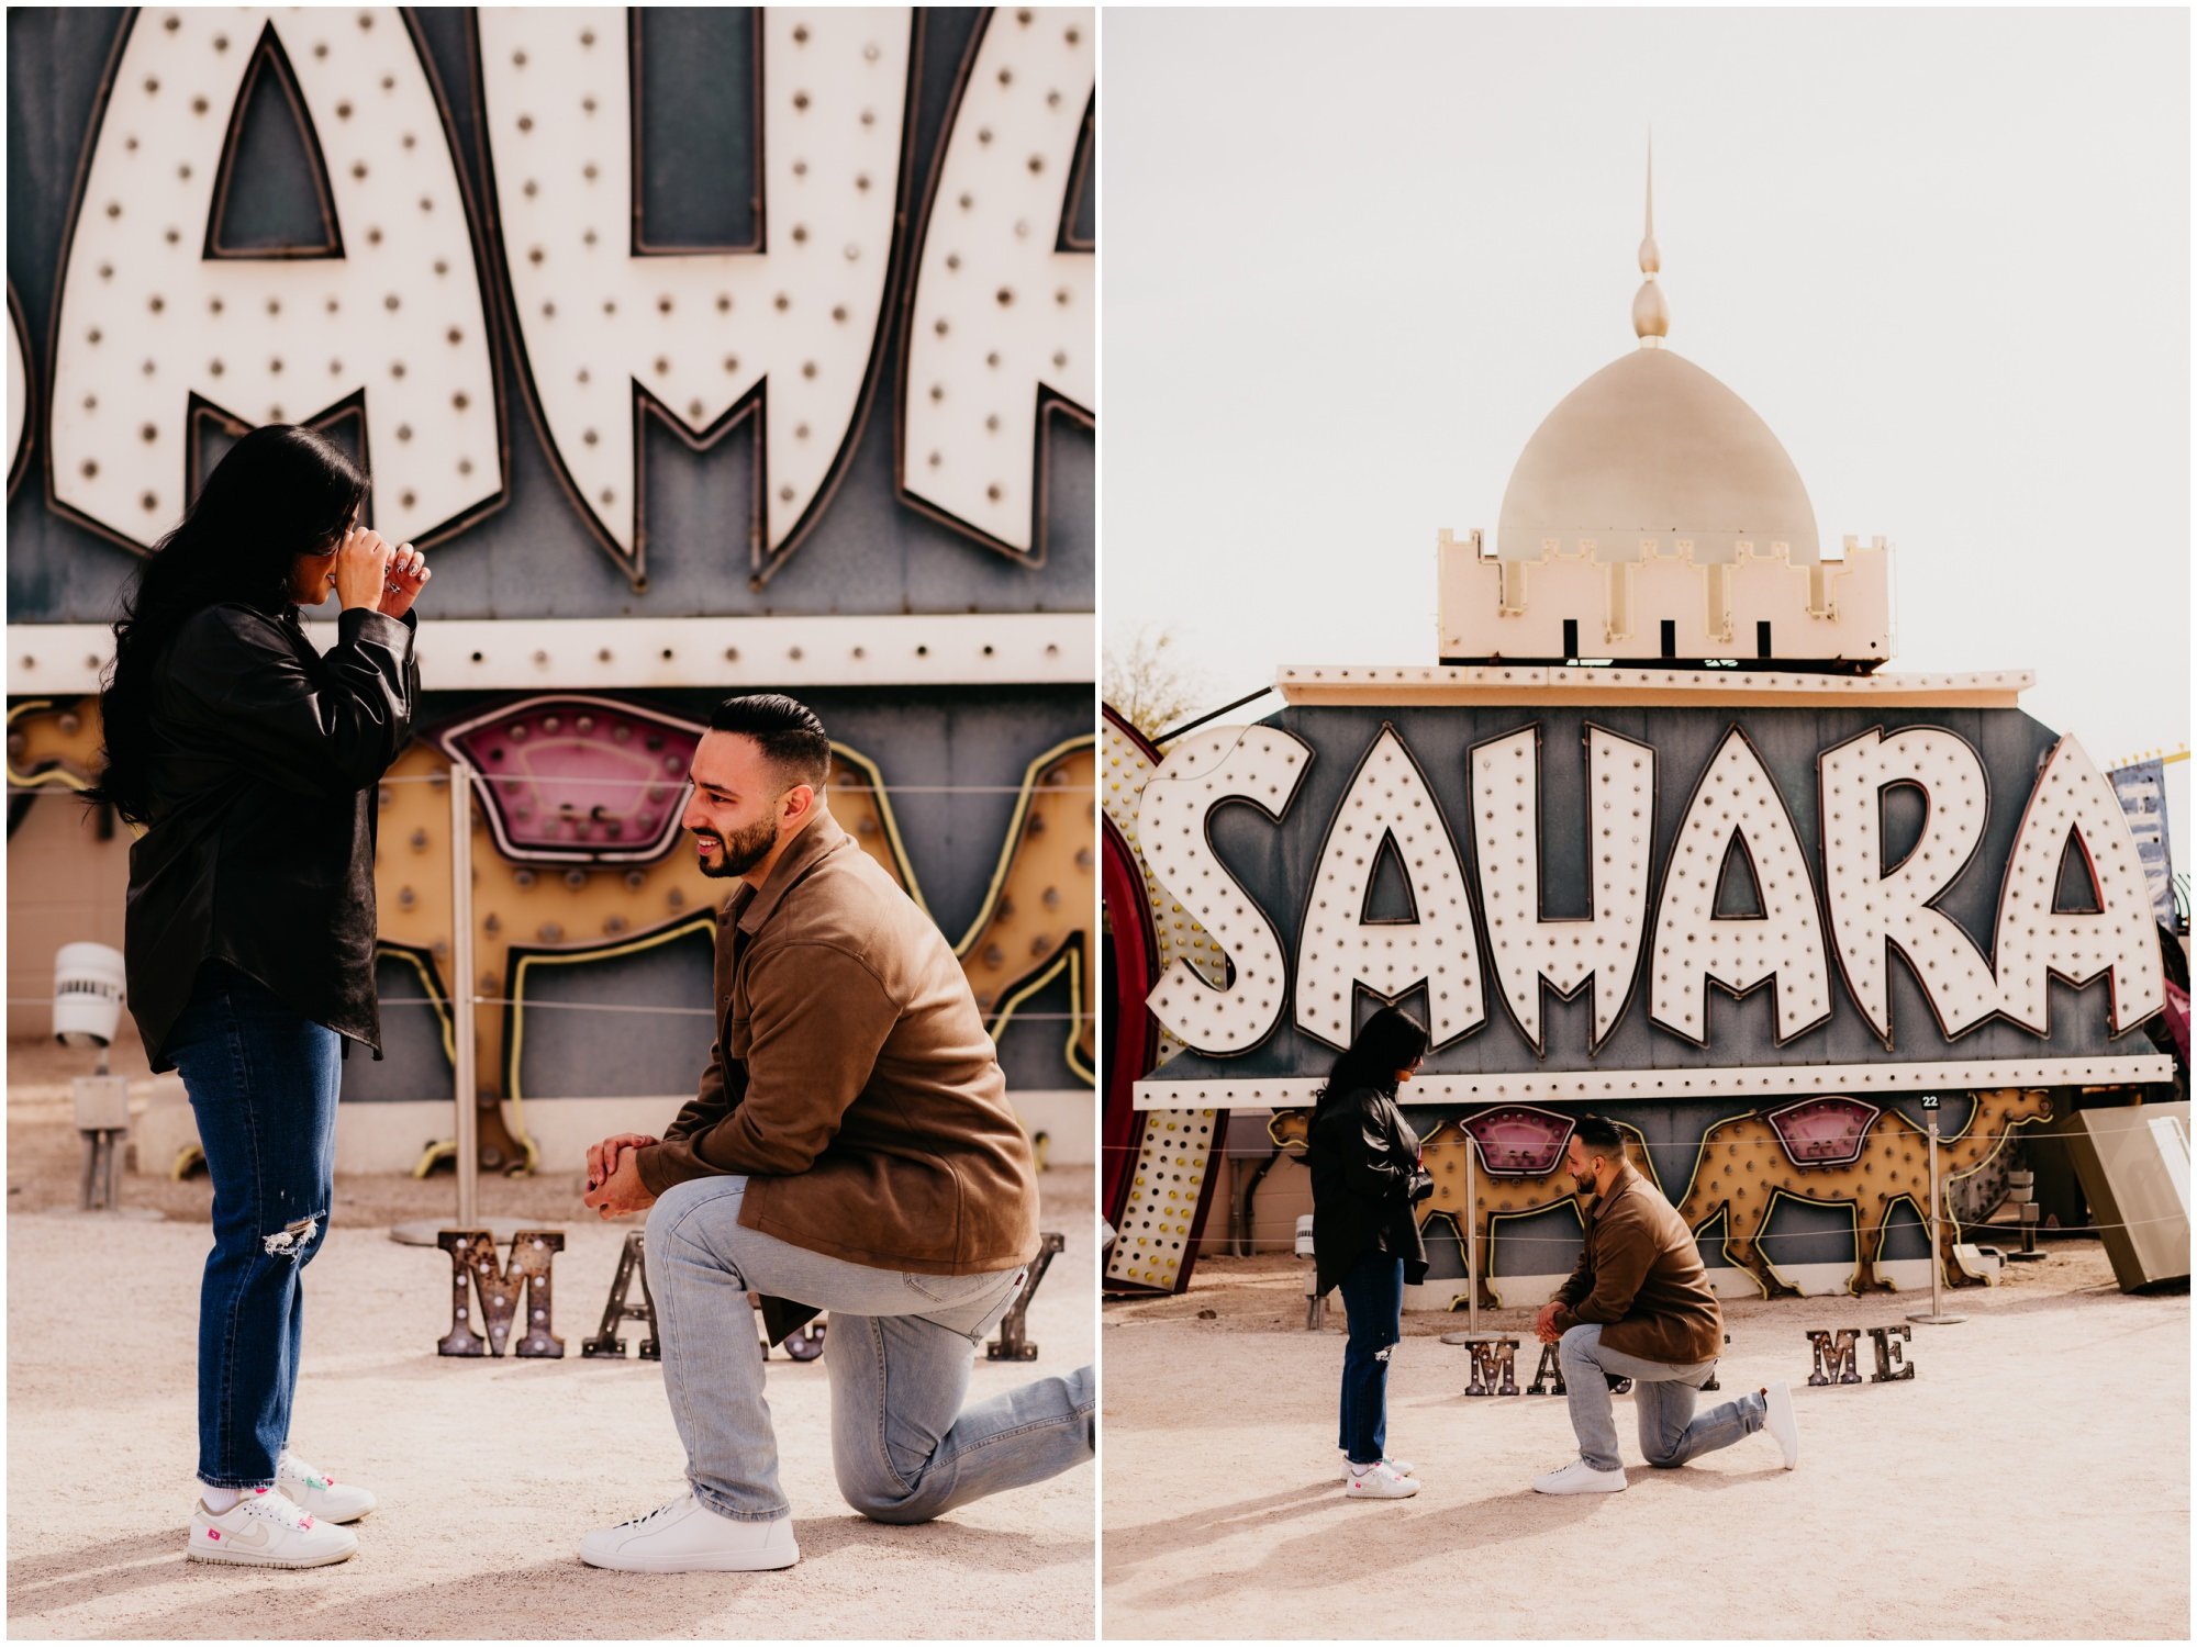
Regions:
<instances>
[{"instance_id":1,"label":"brown suede jacket on the larger kneeling man, left photo","mask_svg":"<svg viewBox=\"0 0 2197 1647\"><path fill-rule=\"evenodd\" d=\"M635 1151L653 1195L745 1173L743 1225L874 1269L1037 1252L1037 1162L969 977L830 813L718 914L716 1015L701 1091Z\"/></svg>"}]
</instances>

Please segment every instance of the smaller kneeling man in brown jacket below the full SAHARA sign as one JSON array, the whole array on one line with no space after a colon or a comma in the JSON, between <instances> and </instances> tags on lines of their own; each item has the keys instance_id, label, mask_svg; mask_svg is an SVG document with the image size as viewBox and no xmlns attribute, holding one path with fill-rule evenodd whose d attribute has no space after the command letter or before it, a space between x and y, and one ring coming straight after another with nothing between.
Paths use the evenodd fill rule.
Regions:
<instances>
[{"instance_id":1,"label":"smaller kneeling man in brown jacket below the full SAHARA sign","mask_svg":"<svg viewBox=\"0 0 2197 1647\"><path fill-rule=\"evenodd\" d=\"M1725 1344L1725 1313L1709 1291L1694 1232L1626 1162L1624 1133L1602 1116L1584 1116L1564 1144L1564 1170L1595 1199L1586 1208L1580 1267L1542 1304L1534 1335L1560 1346L1580 1456L1540 1476L1534 1491L1626 1489L1604 1375L1632 1379L1641 1454L1657 1469L1676 1469L1764 1427L1777 1441L1784 1467L1793 1469L1799 1463L1799 1430L1793 1392L1784 1383L1694 1416L1694 1392L1716 1372Z\"/></svg>"}]
</instances>

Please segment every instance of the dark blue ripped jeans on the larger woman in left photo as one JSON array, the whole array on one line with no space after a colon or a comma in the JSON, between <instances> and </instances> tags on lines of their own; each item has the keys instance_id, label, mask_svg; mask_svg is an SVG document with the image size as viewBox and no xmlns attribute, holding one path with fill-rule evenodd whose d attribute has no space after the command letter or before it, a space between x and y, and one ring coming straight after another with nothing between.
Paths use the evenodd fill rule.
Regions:
<instances>
[{"instance_id":1,"label":"dark blue ripped jeans on the larger woman in left photo","mask_svg":"<svg viewBox=\"0 0 2197 1647\"><path fill-rule=\"evenodd\" d=\"M290 1441L305 1265L336 1181L341 1037L226 962L207 962L167 1056L213 1177L198 1291L198 1478L272 1487Z\"/></svg>"}]
</instances>

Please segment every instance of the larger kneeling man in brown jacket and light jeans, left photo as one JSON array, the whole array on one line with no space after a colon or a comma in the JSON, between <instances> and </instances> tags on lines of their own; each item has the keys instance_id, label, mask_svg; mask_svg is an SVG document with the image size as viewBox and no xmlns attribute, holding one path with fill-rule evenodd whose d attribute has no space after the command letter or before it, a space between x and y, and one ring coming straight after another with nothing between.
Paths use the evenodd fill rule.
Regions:
<instances>
[{"instance_id":1,"label":"larger kneeling man in brown jacket and light jeans, left photo","mask_svg":"<svg viewBox=\"0 0 2197 1647\"><path fill-rule=\"evenodd\" d=\"M589 1149L587 1206L648 1212L663 1388L692 1491L591 1533L628 1572L800 1557L747 1293L830 1311L833 1463L879 1522L1092 1458L1090 1368L962 1410L969 1366L1037 1256L1037 1166L969 979L929 916L824 804L804 705L727 698L685 828L738 878L716 927L718 1041L663 1138Z\"/></svg>"}]
</instances>

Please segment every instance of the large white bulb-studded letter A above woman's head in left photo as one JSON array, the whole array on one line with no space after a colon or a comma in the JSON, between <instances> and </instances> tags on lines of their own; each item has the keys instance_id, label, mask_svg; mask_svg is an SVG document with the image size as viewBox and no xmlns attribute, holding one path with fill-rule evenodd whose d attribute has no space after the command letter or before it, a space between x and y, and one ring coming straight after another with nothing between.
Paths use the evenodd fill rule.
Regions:
<instances>
[{"instance_id":1,"label":"large white bulb-studded letter A above woman's head in left photo","mask_svg":"<svg viewBox=\"0 0 2197 1647\"><path fill-rule=\"evenodd\" d=\"M321 156L332 253L215 246L231 112L281 51ZM242 114L242 110L237 110ZM393 9L174 7L127 26L62 272L53 496L125 545L176 525L191 397L303 424L365 393L373 525L464 525L503 488L466 198Z\"/></svg>"}]
</instances>

